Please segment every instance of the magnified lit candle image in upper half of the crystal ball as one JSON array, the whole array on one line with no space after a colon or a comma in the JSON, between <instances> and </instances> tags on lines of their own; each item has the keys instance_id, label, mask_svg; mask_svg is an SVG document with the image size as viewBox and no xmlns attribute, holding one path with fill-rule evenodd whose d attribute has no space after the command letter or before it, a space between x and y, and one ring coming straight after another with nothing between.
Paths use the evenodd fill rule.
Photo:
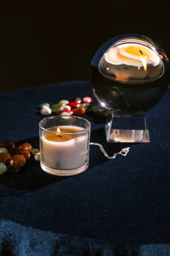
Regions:
<instances>
[{"instance_id":1,"label":"magnified lit candle image in upper half of the crystal ball","mask_svg":"<svg viewBox=\"0 0 170 256\"><path fill-rule=\"evenodd\" d=\"M132 79L158 79L163 74L159 55L142 44L119 44L101 58L100 72L111 79L130 82ZM133 80L132 82L139 82Z\"/></svg>"}]
</instances>

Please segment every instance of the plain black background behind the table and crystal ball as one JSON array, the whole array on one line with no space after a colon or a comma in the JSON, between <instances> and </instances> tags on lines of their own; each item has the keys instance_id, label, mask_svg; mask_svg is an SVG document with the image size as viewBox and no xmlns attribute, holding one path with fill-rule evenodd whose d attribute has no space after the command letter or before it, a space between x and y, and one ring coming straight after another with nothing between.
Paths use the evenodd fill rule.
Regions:
<instances>
[{"instance_id":1,"label":"plain black background behind the table and crystal ball","mask_svg":"<svg viewBox=\"0 0 170 256\"><path fill-rule=\"evenodd\" d=\"M169 20L162 2L57 2L54 6L10 5L10 9L6 6L0 15L0 93L88 80L96 50L123 33L146 35L169 56Z\"/></svg>"}]
</instances>

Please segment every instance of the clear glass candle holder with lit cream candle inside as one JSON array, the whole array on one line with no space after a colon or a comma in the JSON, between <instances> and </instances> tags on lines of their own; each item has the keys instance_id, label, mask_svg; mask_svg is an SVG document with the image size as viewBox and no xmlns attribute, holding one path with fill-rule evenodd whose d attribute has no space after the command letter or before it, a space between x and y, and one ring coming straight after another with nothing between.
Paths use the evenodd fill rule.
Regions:
<instances>
[{"instance_id":1,"label":"clear glass candle holder with lit cream candle inside","mask_svg":"<svg viewBox=\"0 0 170 256\"><path fill-rule=\"evenodd\" d=\"M39 122L40 166L53 175L84 172L89 165L91 123L79 116L50 116Z\"/></svg>"}]
</instances>

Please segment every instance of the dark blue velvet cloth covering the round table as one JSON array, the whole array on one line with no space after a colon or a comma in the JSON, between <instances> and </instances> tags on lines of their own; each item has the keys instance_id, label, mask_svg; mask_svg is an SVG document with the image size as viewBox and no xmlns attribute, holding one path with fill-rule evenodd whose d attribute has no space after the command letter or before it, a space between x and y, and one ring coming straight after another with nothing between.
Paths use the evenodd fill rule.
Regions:
<instances>
[{"instance_id":1,"label":"dark blue velvet cloth covering the round table","mask_svg":"<svg viewBox=\"0 0 170 256\"><path fill-rule=\"evenodd\" d=\"M94 96L88 81L50 84L0 96L0 140L39 148L37 107ZM90 148L90 167L57 177L28 160L17 175L0 176L0 255L170 255L170 91L147 113L150 143L130 145L126 157ZM94 100L95 104L96 100ZM91 121L91 142L109 155L104 122Z\"/></svg>"}]
</instances>

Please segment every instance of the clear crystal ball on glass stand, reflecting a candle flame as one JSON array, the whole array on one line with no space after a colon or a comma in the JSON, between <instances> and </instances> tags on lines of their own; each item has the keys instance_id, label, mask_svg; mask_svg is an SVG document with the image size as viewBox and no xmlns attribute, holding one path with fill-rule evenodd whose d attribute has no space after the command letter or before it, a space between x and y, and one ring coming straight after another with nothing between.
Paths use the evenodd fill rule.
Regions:
<instances>
[{"instance_id":1,"label":"clear crystal ball on glass stand, reflecting a candle flame","mask_svg":"<svg viewBox=\"0 0 170 256\"><path fill-rule=\"evenodd\" d=\"M153 108L169 86L168 58L152 39L127 34L111 38L94 55L90 78L95 97L119 115Z\"/></svg>"}]
</instances>

